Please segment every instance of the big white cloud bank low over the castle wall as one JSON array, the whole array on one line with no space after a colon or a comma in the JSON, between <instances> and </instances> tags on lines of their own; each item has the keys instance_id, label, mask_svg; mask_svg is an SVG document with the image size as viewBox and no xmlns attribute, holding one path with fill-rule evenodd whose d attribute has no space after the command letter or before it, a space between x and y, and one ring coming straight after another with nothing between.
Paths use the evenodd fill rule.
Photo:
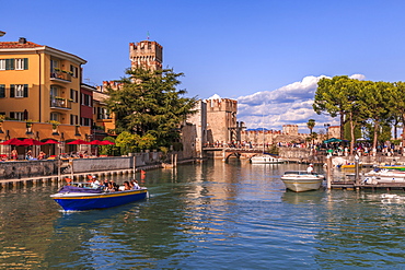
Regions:
<instances>
[{"instance_id":1,"label":"big white cloud bank low over the castle wall","mask_svg":"<svg viewBox=\"0 0 405 270\"><path fill-rule=\"evenodd\" d=\"M317 115L313 99L317 82L325 75L309 75L300 82L293 82L275 91L262 91L252 95L238 97L238 120L247 128L280 130L282 125L298 125L299 132L308 132L306 122L315 119L314 131L324 128L324 124L338 125L338 118ZM351 79L364 80L362 74L352 74Z\"/></svg>"}]
</instances>

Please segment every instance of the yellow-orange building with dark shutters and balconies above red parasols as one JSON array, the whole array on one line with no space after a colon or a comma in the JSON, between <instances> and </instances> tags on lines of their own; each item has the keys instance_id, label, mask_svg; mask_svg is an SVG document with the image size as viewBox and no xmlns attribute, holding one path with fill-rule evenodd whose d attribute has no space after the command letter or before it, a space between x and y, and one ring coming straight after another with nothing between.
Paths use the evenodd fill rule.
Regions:
<instances>
[{"instance_id":1,"label":"yellow-orange building with dark shutters and balconies above red parasols","mask_svg":"<svg viewBox=\"0 0 405 270\"><path fill-rule=\"evenodd\" d=\"M0 42L0 115L10 120L2 124L0 139L84 140L90 134L90 127L79 126L84 63L78 56L25 38ZM34 124L27 125L27 132L19 121ZM50 121L60 122L59 131Z\"/></svg>"}]
</instances>

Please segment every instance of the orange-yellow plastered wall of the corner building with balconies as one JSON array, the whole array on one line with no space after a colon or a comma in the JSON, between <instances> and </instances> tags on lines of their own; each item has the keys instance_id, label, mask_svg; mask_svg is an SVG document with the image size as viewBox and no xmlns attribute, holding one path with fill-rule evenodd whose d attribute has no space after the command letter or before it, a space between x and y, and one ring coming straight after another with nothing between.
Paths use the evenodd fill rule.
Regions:
<instances>
[{"instance_id":1,"label":"orange-yellow plastered wall of the corner building with balconies","mask_svg":"<svg viewBox=\"0 0 405 270\"><path fill-rule=\"evenodd\" d=\"M76 127L80 119L80 98L70 98L71 90L80 91L81 64L85 63L85 60L69 52L26 42L25 38L20 38L19 42L0 43L0 61L4 59L26 59L24 60L26 66L23 70L15 70L15 67L13 70L0 70L0 84L5 86L5 96L0 97L0 113L11 118L16 117L14 113L23 113L21 119L34 121L33 129L34 127L39 128L40 124L50 121L51 113L58 114L57 121L68 126L72 124L71 116L74 116L74 122L67 128L65 140L82 139L77 136L78 127ZM57 69L51 68L51 60L58 61ZM71 72L72 70L74 72ZM27 85L26 95L12 96L11 85L13 84ZM50 95L53 86L58 89L54 96ZM15 130L19 125L10 125L10 122L4 122L2 126L9 128L7 130L11 138L37 137L39 140L44 139L42 130L36 130L38 133L25 133L25 122L21 122L22 130ZM73 136L68 137L68 133L73 133ZM7 139L7 137L4 134L4 138L1 139ZM46 138L54 137L46 134Z\"/></svg>"}]
</instances>

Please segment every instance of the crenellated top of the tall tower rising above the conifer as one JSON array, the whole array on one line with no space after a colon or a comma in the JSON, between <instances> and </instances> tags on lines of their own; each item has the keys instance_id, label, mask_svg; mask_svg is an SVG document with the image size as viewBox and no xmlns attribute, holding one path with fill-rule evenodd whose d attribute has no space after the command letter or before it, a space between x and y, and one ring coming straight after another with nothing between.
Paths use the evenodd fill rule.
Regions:
<instances>
[{"instance_id":1,"label":"crenellated top of the tall tower rising above the conifer","mask_svg":"<svg viewBox=\"0 0 405 270\"><path fill-rule=\"evenodd\" d=\"M162 69L163 47L157 42L143 40L129 44L129 59L131 68L143 68L150 70Z\"/></svg>"}]
</instances>

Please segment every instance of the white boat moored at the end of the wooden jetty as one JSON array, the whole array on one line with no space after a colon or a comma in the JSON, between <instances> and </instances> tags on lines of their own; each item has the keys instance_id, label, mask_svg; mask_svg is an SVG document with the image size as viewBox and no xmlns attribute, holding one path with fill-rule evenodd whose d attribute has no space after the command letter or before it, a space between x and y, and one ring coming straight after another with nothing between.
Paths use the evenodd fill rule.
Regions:
<instances>
[{"instance_id":1,"label":"white boat moored at the end of the wooden jetty","mask_svg":"<svg viewBox=\"0 0 405 270\"><path fill-rule=\"evenodd\" d=\"M281 180L286 185L286 188L294 192L320 189L324 179L325 176L315 172L311 174L306 171L290 171L281 176Z\"/></svg>"}]
</instances>

